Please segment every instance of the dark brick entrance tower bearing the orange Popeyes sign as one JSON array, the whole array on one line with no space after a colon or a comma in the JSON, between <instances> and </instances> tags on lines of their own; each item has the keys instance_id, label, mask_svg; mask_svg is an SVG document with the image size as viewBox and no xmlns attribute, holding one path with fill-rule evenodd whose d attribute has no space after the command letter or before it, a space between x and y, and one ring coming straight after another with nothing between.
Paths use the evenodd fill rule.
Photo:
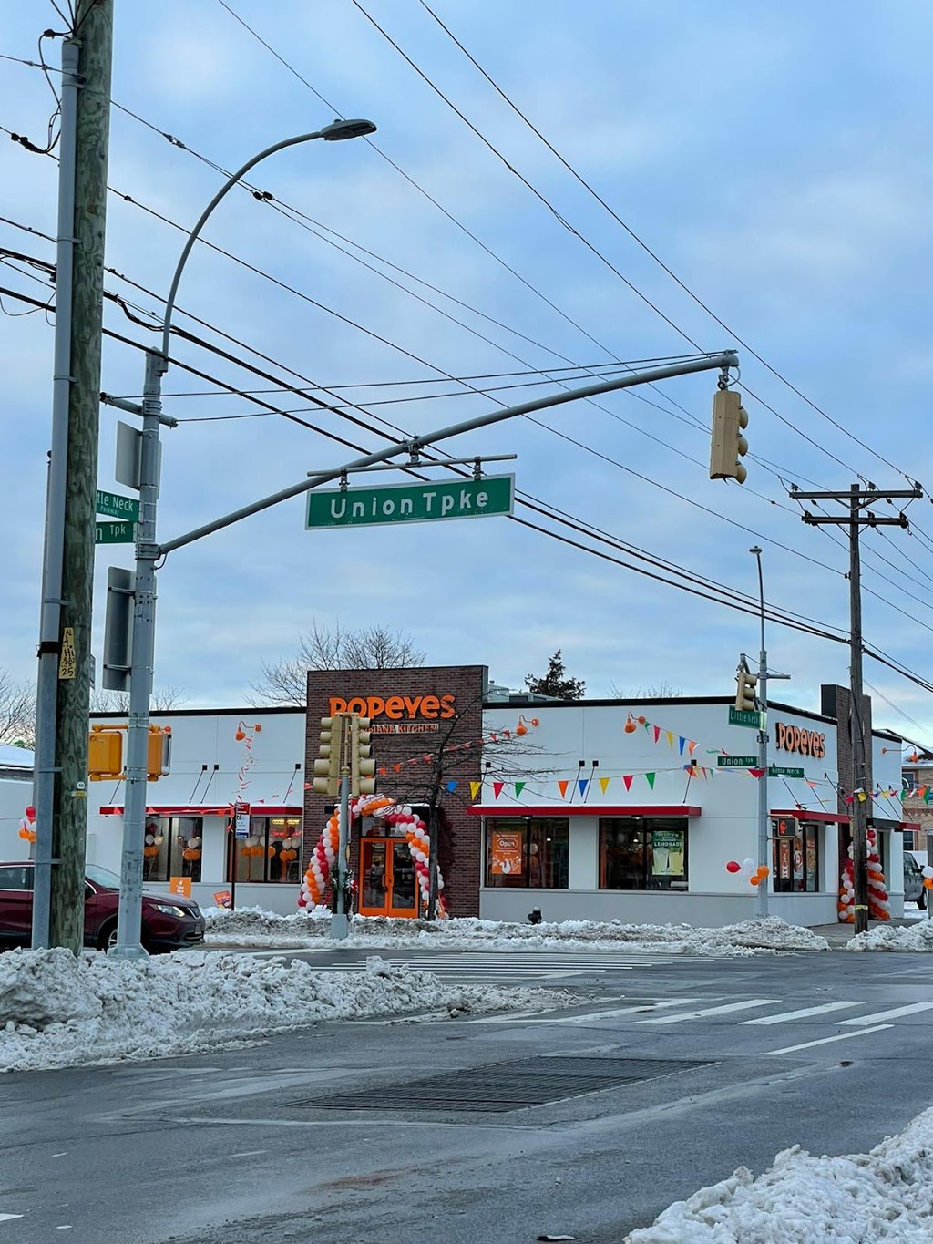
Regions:
<instances>
[{"instance_id":1,"label":"dark brick entrance tower bearing the orange Popeyes sign","mask_svg":"<svg viewBox=\"0 0 933 1244\"><path fill-rule=\"evenodd\" d=\"M372 718L373 726L389 724L437 725L429 733L373 733L372 754L377 765L376 789L399 804L424 805L432 786L439 786L439 863L444 893L454 916L479 914L480 835L478 817L466 816L470 806L470 781L481 774L483 699L488 687L485 666L424 666L419 669L312 669L307 675L307 729L305 773L310 786L318 754L321 718L330 717L330 702L340 697L347 703L355 697L391 702ZM422 709L418 697L453 697L453 703L435 705L432 699ZM409 704L398 700L408 698ZM452 717L443 717L447 707ZM357 705L352 705L356 708ZM414 713L412 709L414 708ZM427 712L428 717L422 715ZM396 714L393 720L392 714ZM463 744L471 744L463 748ZM457 751L444 750L458 746ZM443 759L438 761L438 755ZM425 756L430 760L425 761ZM396 770L396 765L401 766ZM382 773L384 770L384 773ZM448 784L457 789L448 790ZM305 851L311 852L325 826L325 809L332 800L305 791ZM351 868L360 871L360 821L351 836Z\"/></svg>"}]
</instances>

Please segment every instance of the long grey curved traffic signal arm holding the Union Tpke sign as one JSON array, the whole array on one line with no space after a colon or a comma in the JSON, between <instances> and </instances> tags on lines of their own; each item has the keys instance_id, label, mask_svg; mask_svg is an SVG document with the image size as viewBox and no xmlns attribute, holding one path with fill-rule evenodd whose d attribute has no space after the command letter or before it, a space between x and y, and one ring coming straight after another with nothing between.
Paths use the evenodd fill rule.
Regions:
<instances>
[{"instance_id":1,"label":"long grey curved traffic signal arm holding the Union Tpke sign","mask_svg":"<svg viewBox=\"0 0 933 1244\"><path fill-rule=\"evenodd\" d=\"M493 423L501 423L504 419L514 419L518 415L530 414L532 411L542 411L550 406L562 406L566 402L576 402L581 398L596 397L600 393L612 393L615 389L632 388L636 384L651 384L653 381L666 381L671 379L673 376L689 376L694 372L722 371L738 366L739 356L734 350L726 350L718 355L703 355L699 358L692 358L682 363L669 363L667 367L653 367L646 372L632 372L628 376L618 376L615 379L603 381L600 384L588 384L585 388L570 389L564 393L552 393L549 397L536 398L532 402L522 402L520 406L506 406L499 411L491 411L489 414L480 414L474 419L465 419L463 423L453 423L448 427L438 428L435 432L428 432L423 437L409 437L406 440L397 440L386 449L378 449L373 454L366 454L363 458L357 458L351 463L345 463L342 466L335 466L332 470L320 471L311 478L302 480L300 484L292 484L291 488L284 488L279 493L272 493L270 496L264 496L259 501L253 501L251 505L244 505L239 510L233 510L230 514L225 514L220 519L214 519L213 522L205 522L203 526L185 532L185 535L175 536L174 540L167 540L164 544L154 546L152 552L156 557L164 557L167 554L174 552L175 549L183 549L185 545L194 544L195 540L202 540L204 536L213 535L215 531L223 531L224 527L229 527L234 522L239 522L240 519L248 519L251 514L259 514L262 510L267 510L270 506L277 505L280 501L287 501L292 496L301 496L302 493L310 493L311 489L317 488L318 484L328 484L335 479L340 480L341 475L345 475L350 470L355 470L361 466L371 466L376 463L384 463L389 458L394 458L396 454L417 454L420 449L433 445L438 440L449 440L450 437L459 437L464 432L473 432L476 428L486 428ZM399 470L404 469L407 465L407 463L401 463ZM423 465L443 466L444 463L424 463ZM896 494L881 495L887 496Z\"/></svg>"}]
</instances>

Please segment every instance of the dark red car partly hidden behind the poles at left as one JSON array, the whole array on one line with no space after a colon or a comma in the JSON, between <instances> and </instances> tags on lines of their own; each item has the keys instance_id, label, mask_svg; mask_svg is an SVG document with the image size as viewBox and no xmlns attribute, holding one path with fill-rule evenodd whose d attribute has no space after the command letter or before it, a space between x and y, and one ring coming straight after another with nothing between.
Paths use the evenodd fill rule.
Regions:
<instances>
[{"instance_id":1,"label":"dark red car partly hidden behind the poles at left","mask_svg":"<svg viewBox=\"0 0 933 1244\"><path fill-rule=\"evenodd\" d=\"M0 863L0 948L29 945L32 931L31 860ZM85 945L106 950L117 940L119 877L88 865L85 872ZM204 942L204 917L179 894L143 892L142 943L152 954Z\"/></svg>"}]
</instances>

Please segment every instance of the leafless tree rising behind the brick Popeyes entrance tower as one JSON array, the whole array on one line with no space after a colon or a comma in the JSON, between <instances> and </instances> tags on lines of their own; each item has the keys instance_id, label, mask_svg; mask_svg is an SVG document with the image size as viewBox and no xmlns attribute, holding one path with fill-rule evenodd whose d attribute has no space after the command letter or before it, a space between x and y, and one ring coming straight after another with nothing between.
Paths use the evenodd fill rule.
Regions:
<instances>
[{"instance_id":1,"label":"leafless tree rising behind the brick Popeyes entrance tower","mask_svg":"<svg viewBox=\"0 0 933 1244\"><path fill-rule=\"evenodd\" d=\"M333 629L315 620L299 638L291 659L262 662L262 678L253 683L253 704L305 708L309 669L403 669L424 664L424 653L404 631L383 626Z\"/></svg>"}]
</instances>

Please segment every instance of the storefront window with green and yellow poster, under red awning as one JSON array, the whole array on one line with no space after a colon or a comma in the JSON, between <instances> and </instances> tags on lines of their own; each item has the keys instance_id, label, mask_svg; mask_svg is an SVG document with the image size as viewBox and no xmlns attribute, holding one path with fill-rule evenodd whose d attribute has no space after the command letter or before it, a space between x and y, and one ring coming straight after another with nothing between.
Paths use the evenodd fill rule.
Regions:
<instances>
[{"instance_id":1,"label":"storefront window with green and yellow poster, under red awning","mask_svg":"<svg viewBox=\"0 0 933 1244\"><path fill-rule=\"evenodd\" d=\"M600 889L687 889L687 821L600 821Z\"/></svg>"}]
</instances>

